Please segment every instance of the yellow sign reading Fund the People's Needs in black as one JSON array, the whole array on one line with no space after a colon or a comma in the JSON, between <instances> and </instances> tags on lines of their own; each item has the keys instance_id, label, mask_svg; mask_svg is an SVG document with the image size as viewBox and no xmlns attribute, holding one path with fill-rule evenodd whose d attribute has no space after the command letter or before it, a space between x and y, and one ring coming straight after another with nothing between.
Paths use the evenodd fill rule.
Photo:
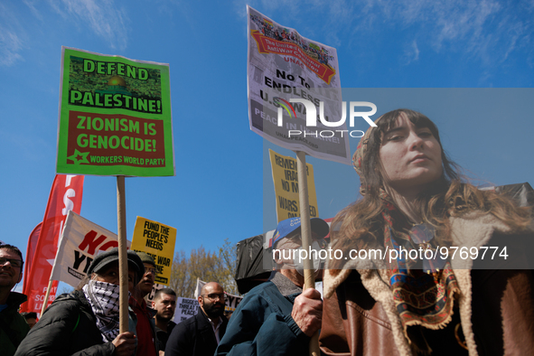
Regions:
<instances>
[{"instance_id":1,"label":"yellow sign reading Fund the People's Needs in black","mask_svg":"<svg viewBox=\"0 0 534 356\"><path fill-rule=\"evenodd\" d=\"M155 260L155 283L169 286L173 267L176 229L160 222L137 217L131 249L146 252Z\"/></svg>"}]
</instances>

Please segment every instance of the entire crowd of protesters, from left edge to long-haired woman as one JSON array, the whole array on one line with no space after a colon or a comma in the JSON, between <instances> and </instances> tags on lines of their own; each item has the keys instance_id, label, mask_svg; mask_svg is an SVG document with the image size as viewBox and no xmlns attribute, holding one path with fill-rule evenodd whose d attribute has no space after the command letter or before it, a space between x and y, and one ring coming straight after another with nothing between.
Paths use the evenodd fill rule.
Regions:
<instances>
[{"instance_id":1,"label":"entire crowd of protesters, from left edge to long-haired woman","mask_svg":"<svg viewBox=\"0 0 534 356\"><path fill-rule=\"evenodd\" d=\"M278 223L275 268L245 295L230 322L225 291L215 281L202 287L198 313L181 323L172 322L172 289L158 291L150 308L145 296L154 286L155 261L128 251L124 333L118 326L117 248L99 254L80 286L56 298L34 323L36 315L17 312L26 296L12 291L22 279L22 253L0 245L2 354L307 355L317 333L326 355L531 354L531 209L465 183L428 117L398 109L375 123L353 155L362 199L331 227L310 220L313 249L342 252L314 264L323 295L304 288L304 267L295 258L303 245L300 218ZM441 256L443 248L460 247L505 247L507 258ZM441 255L357 259L355 248Z\"/></svg>"}]
</instances>

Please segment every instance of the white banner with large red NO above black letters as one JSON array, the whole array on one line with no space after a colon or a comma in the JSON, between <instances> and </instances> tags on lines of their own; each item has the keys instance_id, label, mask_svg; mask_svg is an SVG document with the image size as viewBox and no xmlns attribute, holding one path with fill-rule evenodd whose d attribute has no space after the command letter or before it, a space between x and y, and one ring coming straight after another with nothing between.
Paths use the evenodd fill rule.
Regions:
<instances>
[{"instance_id":1,"label":"white banner with large red NO above black letters","mask_svg":"<svg viewBox=\"0 0 534 356\"><path fill-rule=\"evenodd\" d=\"M130 241L126 240L127 248ZM69 211L52 267L52 280L78 286L98 251L118 246L117 235Z\"/></svg>"}]
</instances>

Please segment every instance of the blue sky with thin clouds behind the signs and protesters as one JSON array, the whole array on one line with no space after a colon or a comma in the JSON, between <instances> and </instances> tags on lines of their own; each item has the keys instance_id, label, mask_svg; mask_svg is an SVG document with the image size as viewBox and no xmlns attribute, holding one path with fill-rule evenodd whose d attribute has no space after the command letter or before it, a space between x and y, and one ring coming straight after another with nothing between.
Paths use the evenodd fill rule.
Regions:
<instances>
[{"instance_id":1,"label":"blue sky with thin clouds behind the signs and protesters","mask_svg":"<svg viewBox=\"0 0 534 356\"><path fill-rule=\"evenodd\" d=\"M249 130L247 4L335 47L342 88L369 88L343 99L420 110L470 175L534 183L534 1L1 0L0 239L25 253L44 214L61 45L170 63L176 176L126 178L128 239L136 216L176 228L186 252L274 229L267 148L294 154ZM321 217L357 199L350 166L308 162ZM114 177L86 177L81 215L117 231Z\"/></svg>"}]
</instances>

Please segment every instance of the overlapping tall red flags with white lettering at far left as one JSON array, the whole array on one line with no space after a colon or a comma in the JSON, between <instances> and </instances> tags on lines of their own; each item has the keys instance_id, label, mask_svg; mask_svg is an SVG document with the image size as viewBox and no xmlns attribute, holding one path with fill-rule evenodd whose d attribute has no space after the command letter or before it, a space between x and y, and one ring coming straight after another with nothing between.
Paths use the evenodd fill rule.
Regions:
<instances>
[{"instance_id":1,"label":"overlapping tall red flags with white lettering at far left","mask_svg":"<svg viewBox=\"0 0 534 356\"><path fill-rule=\"evenodd\" d=\"M46 295L53 261L58 250L58 241L65 219L67 219L67 212L71 210L80 214L83 178L83 175L56 174L48 198L48 205L44 212L41 232L34 249L31 246L33 233L28 241L28 251L32 248L33 256L26 256L26 263L29 264L31 261L31 266L26 266L27 270L24 270L23 282L23 294L28 296L28 302L21 305L21 312L41 313L42 302ZM55 298L57 287L58 281L54 281L49 296L49 304L52 304Z\"/></svg>"}]
</instances>

